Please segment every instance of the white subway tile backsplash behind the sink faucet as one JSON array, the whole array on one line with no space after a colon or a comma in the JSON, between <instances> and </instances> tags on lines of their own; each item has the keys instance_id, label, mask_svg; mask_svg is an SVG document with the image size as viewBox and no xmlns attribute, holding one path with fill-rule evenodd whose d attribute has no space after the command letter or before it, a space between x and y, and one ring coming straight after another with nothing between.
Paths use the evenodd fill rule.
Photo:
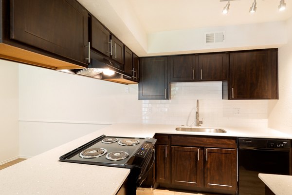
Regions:
<instances>
[{"instance_id":1,"label":"white subway tile backsplash behind the sink faucet","mask_svg":"<svg viewBox=\"0 0 292 195\"><path fill-rule=\"evenodd\" d=\"M171 83L170 89L170 100L143 100L143 123L194 125L199 99L202 126L268 126L269 100L222 100L221 81Z\"/></svg>"}]
</instances>

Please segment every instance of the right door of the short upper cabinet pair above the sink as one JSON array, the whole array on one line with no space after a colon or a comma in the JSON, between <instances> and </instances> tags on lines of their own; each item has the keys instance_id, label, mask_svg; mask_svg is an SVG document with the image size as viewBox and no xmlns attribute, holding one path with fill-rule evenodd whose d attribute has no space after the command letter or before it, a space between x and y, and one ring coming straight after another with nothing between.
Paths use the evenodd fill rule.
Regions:
<instances>
[{"instance_id":1,"label":"right door of the short upper cabinet pair above the sink","mask_svg":"<svg viewBox=\"0 0 292 195\"><path fill-rule=\"evenodd\" d=\"M226 54L199 55L200 80L226 80Z\"/></svg>"}]
</instances>

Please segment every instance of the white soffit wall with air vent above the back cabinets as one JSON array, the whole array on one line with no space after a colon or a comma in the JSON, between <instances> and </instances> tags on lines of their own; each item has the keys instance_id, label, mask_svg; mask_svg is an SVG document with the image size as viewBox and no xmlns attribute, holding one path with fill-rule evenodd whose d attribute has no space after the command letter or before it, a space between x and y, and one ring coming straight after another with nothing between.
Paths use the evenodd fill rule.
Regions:
<instances>
[{"instance_id":1,"label":"white soffit wall with air vent above the back cabinets","mask_svg":"<svg viewBox=\"0 0 292 195\"><path fill-rule=\"evenodd\" d=\"M206 44L204 33L225 32L222 43ZM165 31L148 35L148 54L186 54L276 48L286 44L285 22L265 22L210 28Z\"/></svg>"}]
</instances>

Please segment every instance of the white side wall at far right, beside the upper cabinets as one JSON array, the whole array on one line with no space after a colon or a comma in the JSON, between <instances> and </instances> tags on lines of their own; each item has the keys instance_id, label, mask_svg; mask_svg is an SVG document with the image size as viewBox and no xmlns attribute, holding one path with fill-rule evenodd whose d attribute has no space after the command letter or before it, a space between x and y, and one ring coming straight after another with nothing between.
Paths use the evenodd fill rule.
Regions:
<instances>
[{"instance_id":1,"label":"white side wall at far right, beside the upper cabinets","mask_svg":"<svg viewBox=\"0 0 292 195\"><path fill-rule=\"evenodd\" d=\"M292 133L292 18L287 20L288 44L279 48L279 100L269 116L269 127Z\"/></svg>"}]
</instances>

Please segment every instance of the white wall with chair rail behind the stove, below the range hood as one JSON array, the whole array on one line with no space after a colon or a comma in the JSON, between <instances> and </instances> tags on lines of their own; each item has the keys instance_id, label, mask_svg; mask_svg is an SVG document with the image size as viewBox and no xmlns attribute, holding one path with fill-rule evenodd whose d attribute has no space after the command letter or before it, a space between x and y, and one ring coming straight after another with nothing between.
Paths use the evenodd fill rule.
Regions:
<instances>
[{"instance_id":1,"label":"white wall with chair rail behind the stove, below the range hood","mask_svg":"<svg viewBox=\"0 0 292 195\"><path fill-rule=\"evenodd\" d=\"M35 156L117 122L141 123L138 86L19 64L20 156ZM110 135L110 132L109 132Z\"/></svg>"}]
</instances>

